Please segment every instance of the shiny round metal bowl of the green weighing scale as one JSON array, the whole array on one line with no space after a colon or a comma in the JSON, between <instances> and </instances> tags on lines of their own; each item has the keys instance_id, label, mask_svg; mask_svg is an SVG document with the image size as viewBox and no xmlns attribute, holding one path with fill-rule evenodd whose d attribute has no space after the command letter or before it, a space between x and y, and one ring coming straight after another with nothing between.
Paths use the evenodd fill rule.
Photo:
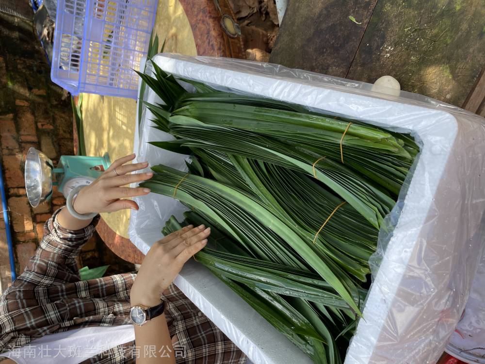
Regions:
<instances>
[{"instance_id":1,"label":"shiny round metal bowl of the green weighing scale","mask_svg":"<svg viewBox=\"0 0 485 364\"><path fill-rule=\"evenodd\" d=\"M25 158L25 190L32 207L37 207L52 193L53 168L47 155L33 147L29 149Z\"/></svg>"}]
</instances>

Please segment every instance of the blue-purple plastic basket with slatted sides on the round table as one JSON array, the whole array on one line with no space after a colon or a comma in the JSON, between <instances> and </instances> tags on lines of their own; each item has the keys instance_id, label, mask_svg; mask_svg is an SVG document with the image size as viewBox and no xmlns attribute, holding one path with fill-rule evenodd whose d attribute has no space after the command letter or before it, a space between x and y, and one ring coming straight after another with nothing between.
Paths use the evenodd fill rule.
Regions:
<instances>
[{"instance_id":1,"label":"blue-purple plastic basket with slatted sides on the round table","mask_svg":"<svg viewBox=\"0 0 485 364\"><path fill-rule=\"evenodd\" d=\"M136 99L158 0L58 0L50 76L77 95Z\"/></svg>"}]
</instances>

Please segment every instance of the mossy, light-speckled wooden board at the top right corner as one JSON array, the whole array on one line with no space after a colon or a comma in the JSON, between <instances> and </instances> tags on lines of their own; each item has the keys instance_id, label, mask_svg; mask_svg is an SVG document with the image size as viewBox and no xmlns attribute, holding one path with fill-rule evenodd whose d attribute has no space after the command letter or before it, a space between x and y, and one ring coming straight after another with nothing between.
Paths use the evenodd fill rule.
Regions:
<instances>
[{"instance_id":1,"label":"mossy, light-speckled wooden board at the top right corner","mask_svg":"<svg viewBox=\"0 0 485 364\"><path fill-rule=\"evenodd\" d=\"M391 75L406 91L461 106L485 64L483 0L378 1L348 78Z\"/></svg>"}]
</instances>

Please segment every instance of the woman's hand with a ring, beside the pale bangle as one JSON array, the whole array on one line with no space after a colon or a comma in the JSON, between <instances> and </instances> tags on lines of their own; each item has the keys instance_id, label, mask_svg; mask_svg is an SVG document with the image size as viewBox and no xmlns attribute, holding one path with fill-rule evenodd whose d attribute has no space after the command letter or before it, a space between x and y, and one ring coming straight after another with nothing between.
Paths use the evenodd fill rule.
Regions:
<instances>
[{"instance_id":1,"label":"woman's hand with a ring, beside the pale bangle","mask_svg":"<svg viewBox=\"0 0 485 364\"><path fill-rule=\"evenodd\" d=\"M131 154L114 161L96 181L82 188L74 200L74 210L78 214L113 212L123 209L138 210L138 204L126 198L144 196L150 193L150 189L122 186L146 181L153 176L153 173L129 174L148 166L148 162L125 164L134 158L135 154Z\"/></svg>"}]
</instances>

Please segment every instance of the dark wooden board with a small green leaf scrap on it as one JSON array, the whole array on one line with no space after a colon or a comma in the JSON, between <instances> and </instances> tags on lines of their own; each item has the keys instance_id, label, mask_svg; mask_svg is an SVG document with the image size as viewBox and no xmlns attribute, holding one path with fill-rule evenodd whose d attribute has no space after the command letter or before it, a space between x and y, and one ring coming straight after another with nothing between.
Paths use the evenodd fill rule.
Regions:
<instances>
[{"instance_id":1,"label":"dark wooden board with a small green leaf scrap on it","mask_svg":"<svg viewBox=\"0 0 485 364\"><path fill-rule=\"evenodd\" d=\"M270 62L346 77L376 2L290 1Z\"/></svg>"}]
</instances>

